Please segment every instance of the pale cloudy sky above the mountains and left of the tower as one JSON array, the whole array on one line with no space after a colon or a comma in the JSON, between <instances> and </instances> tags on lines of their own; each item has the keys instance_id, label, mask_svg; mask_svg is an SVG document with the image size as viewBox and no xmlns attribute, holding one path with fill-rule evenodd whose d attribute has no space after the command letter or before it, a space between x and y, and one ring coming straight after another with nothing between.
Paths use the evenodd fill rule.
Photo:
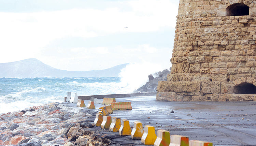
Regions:
<instances>
[{"instance_id":1,"label":"pale cloudy sky above the mountains and left of the tower","mask_svg":"<svg viewBox=\"0 0 256 146\"><path fill-rule=\"evenodd\" d=\"M0 63L169 69L178 7L179 0L0 0Z\"/></svg>"}]
</instances>

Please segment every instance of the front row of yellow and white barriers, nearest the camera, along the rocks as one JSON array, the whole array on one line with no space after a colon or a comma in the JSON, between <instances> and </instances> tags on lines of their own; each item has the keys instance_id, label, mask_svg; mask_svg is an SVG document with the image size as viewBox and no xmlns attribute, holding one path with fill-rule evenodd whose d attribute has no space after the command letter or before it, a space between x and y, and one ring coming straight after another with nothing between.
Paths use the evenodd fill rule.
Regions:
<instances>
[{"instance_id":1,"label":"front row of yellow and white barriers, nearest the camera, along the rocks","mask_svg":"<svg viewBox=\"0 0 256 146\"><path fill-rule=\"evenodd\" d=\"M141 140L144 145L154 146L212 146L210 142L190 140L187 136L170 135L170 132L159 129L157 135L155 127L145 125L144 130L141 122L134 122L134 128L131 130L128 120L120 120L118 117L111 117L101 113L96 114L94 121L96 126L102 129L109 129L112 132L118 132L120 136L131 135L133 140Z\"/></svg>"}]
</instances>

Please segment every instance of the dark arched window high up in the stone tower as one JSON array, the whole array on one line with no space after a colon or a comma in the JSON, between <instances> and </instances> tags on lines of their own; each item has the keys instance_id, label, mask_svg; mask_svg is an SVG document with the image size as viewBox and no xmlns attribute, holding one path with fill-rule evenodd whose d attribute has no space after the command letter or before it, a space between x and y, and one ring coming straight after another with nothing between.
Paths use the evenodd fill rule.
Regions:
<instances>
[{"instance_id":1,"label":"dark arched window high up in the stone tower","mask_svg":"<svg viewBox=\"0 0 256 146\"><path fill-rule=\"evenodd\" d=\"M249 15L249 7L242 3L234 3L227 7L226 16Z\"/></svg>"}]
</instances>

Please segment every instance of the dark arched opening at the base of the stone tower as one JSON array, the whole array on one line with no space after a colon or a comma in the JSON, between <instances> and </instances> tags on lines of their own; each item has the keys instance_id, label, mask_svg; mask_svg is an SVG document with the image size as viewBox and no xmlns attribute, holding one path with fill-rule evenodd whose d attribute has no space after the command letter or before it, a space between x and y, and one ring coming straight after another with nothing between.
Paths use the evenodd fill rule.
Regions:
<instances>
[{"instance_id":1,"label":"dark arched opening at the base of the stone tower","mask_svg":"<svg viewBox=\"0 0 256 146\"><path fill-rule=\"evenodd\" d=\"M243 83L234 87L236 94L256 94L256 87L250 83Z\"/></svg>"}]
</instances>

